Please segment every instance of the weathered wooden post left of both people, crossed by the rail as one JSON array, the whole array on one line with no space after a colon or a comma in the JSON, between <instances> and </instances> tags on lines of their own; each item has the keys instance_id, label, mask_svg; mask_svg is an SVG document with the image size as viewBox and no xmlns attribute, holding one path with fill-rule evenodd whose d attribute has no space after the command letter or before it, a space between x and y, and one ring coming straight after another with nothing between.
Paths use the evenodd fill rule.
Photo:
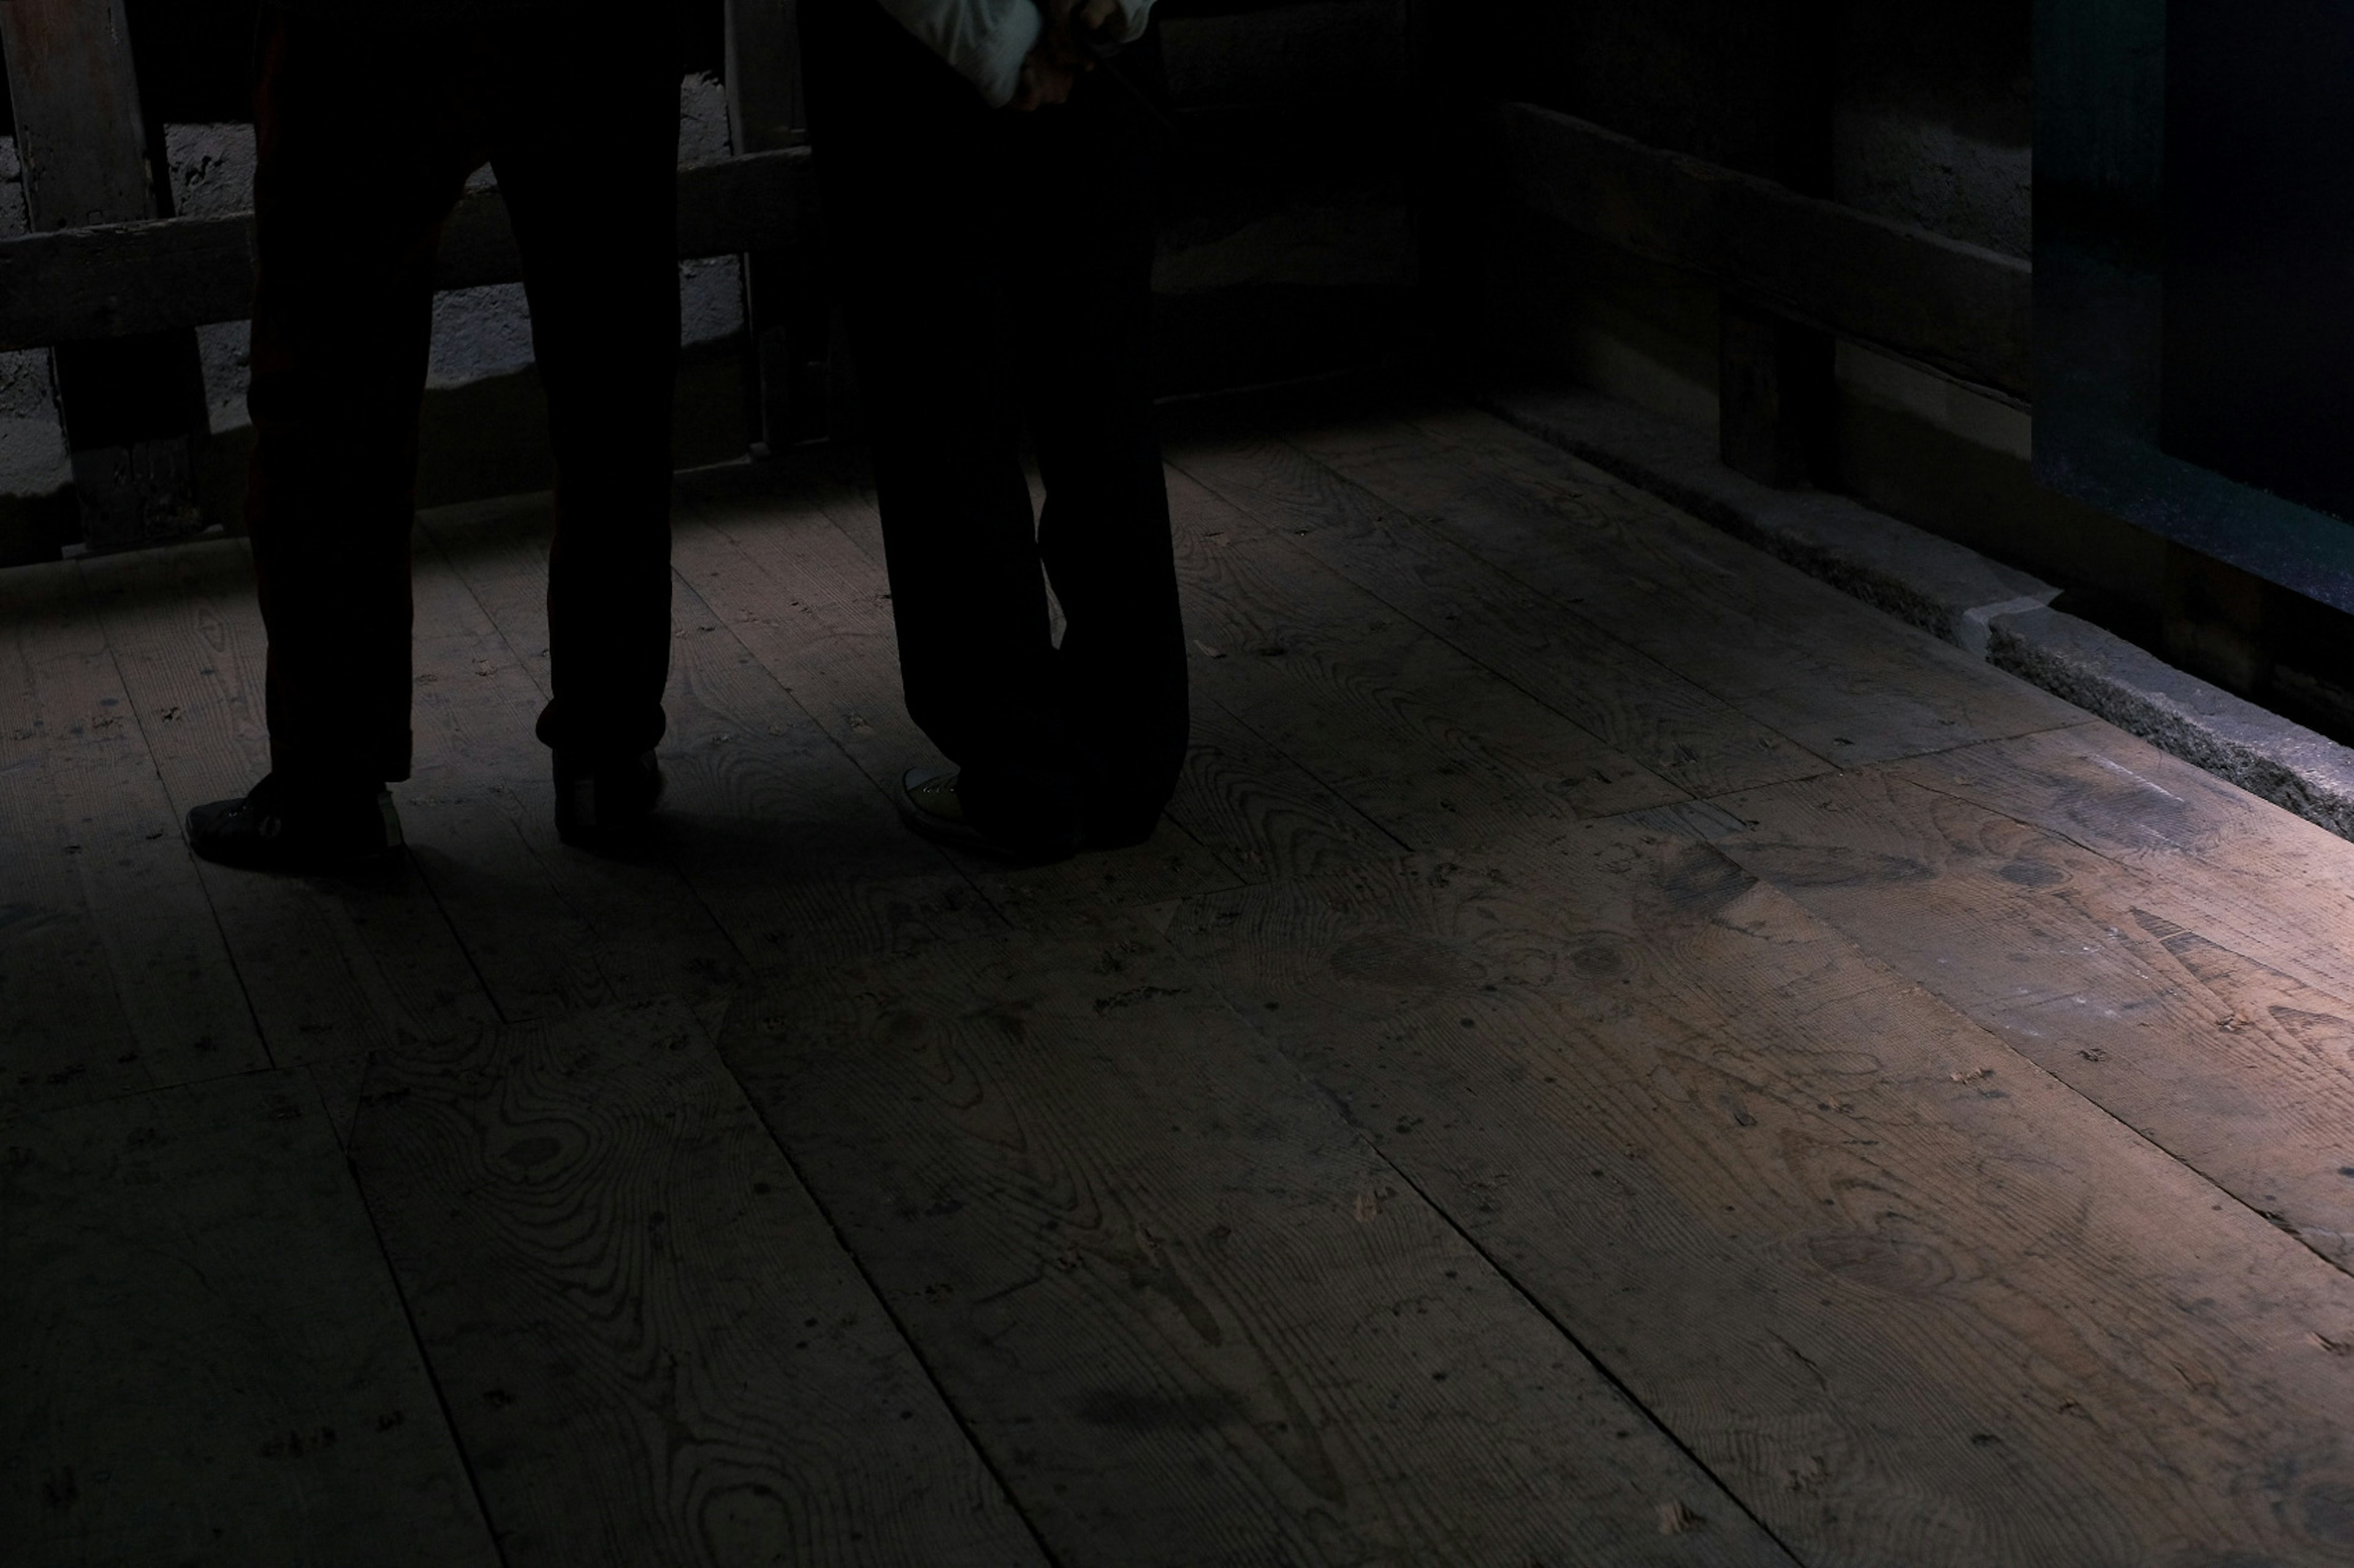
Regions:
<instances>
[{"instance_id":1,"label":"weathered wooden post left of both people, crossed by the rail","mask_svg":"<svg viewBox=\"0 0 2354 1568\"><path fill-rule=\"evenodd\" d=\"M35 231L167 217L122 0L0 0L0 54ZM85 542L115 549L200 527L195 334L64 344L54 367Z\"/></svg>"}]
</instances>

